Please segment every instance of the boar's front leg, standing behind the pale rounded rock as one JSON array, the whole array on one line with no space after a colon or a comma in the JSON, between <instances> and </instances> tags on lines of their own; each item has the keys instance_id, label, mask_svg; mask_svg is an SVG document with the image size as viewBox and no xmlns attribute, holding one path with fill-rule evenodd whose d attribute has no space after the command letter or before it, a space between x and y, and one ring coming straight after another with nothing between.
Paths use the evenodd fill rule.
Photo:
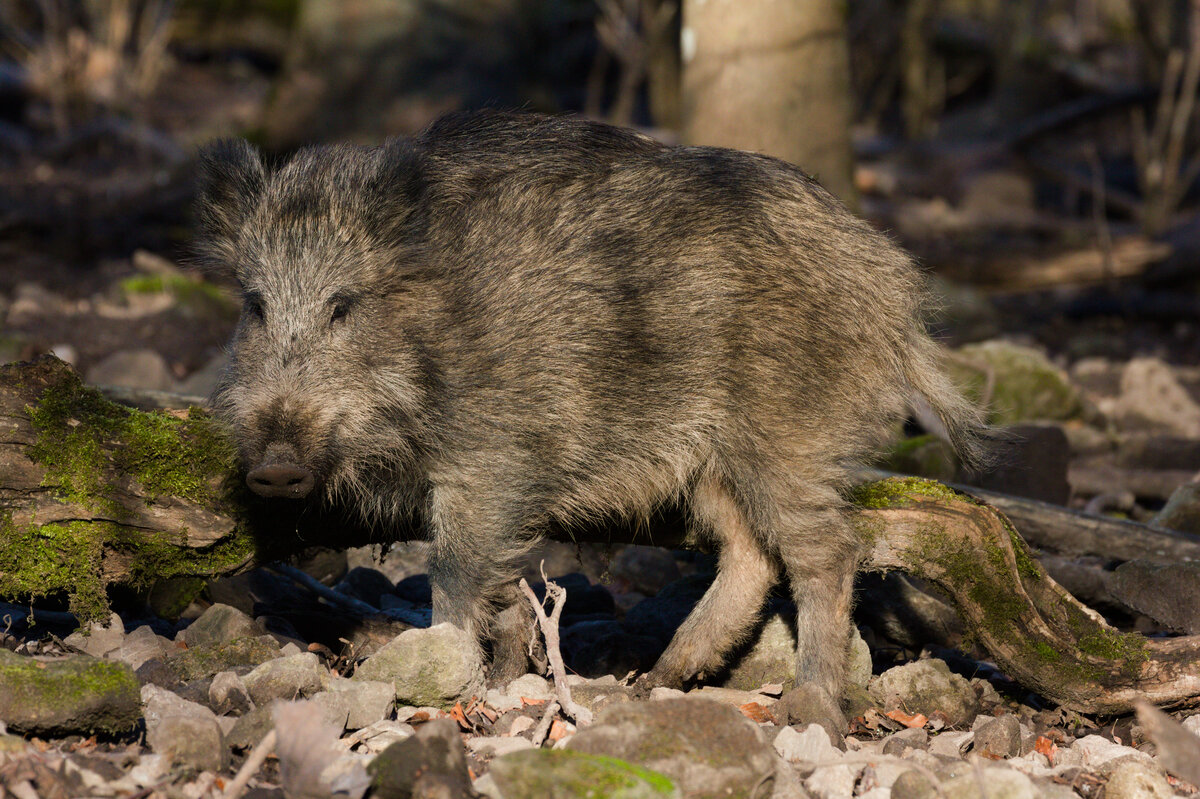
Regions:
<instances>
[{"instance_id":1,"label":"boar's front leg, standing behind the pale rounded rock","mask_svg":"<svg viewBox=\"0 0 1200 799\"><path fill-rule=\"evenodd\" d=\"M482 661L491 643L493 685L528 667L532 612L517 590L522 558L536 542L528 515L500 498L434 489L430 501L433 624L470 633ZM502 612L503 611L503 612Z\"/></svg>"}]
</instances>

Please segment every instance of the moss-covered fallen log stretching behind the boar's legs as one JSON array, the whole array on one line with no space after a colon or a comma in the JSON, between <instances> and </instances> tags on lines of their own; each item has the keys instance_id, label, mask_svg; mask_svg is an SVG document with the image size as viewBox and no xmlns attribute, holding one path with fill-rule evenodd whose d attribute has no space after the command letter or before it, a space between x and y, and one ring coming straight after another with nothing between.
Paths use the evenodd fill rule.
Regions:
<instances>
[{"instance_id":1,"label":"moss-covered fallen log stretching behind the boar's legs","mask_svg":"<svg viewBox=\"0 0 1200 799\"><path fill-rule=\"evenodd\" d=\"M995 507L917 479L868 483L856 499L864 569L937 585L1022 685L1086 713L1123 713L1139 698L1200 704L1200 637L1114 630L1046 576ZM254 498L228 437L199 408L116 405L52 358L0 367L0 599L65 593L78 617L95 618L113 584L230 575L379 535L332 511ZM619 529L604 535L623 540ZM667 530L654 542L678 539Z\"/></svg>"}]
</instances>

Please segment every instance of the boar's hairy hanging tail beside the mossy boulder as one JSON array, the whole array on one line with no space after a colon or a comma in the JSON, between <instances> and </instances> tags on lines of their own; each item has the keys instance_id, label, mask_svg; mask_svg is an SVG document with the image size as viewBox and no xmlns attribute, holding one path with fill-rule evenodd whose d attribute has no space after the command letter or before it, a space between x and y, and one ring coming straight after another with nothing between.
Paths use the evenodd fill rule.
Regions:
<instances>
[{"instance_id":1,"label":"boar's hairy hanging tail beside the mossy boulder","mask_svg":"<svg viewBox=\"0 0 1200 799\"><path fill-rule=\"evenodd\" d=\"M954 385L946 373L942 348L924 331L914 332L910 356L904 366L905 379L912 388L912 409L920 423L949 441L962 465L984 471L992 462L988 446L992 431L984 411Z\"/></svg>"}]
</instances>

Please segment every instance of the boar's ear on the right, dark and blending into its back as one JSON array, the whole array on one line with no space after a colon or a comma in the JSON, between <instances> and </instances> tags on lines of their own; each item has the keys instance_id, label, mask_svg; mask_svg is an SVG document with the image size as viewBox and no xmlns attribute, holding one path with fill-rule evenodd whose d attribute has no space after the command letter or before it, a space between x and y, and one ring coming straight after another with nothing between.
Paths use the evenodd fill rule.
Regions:
<instances>
[{"instance_id":1,"label":"boar's ear on the right, dark and blending into its back","mask_svg":"<svg viewBox=\"0 0 1200 799\"><path fill-rule=\"evenodd\" d=\"M401 242L419 235L425 217L425 160L412 139L389 139L378 150L367 191L374 233Z\"/></svg>"}]
</instances>

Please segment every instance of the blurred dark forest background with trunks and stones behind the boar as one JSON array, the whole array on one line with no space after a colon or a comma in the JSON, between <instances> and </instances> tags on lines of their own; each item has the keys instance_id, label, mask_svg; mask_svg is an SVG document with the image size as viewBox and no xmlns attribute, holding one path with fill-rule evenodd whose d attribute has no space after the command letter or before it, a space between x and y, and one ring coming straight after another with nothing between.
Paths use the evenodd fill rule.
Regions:
<instances>
[{"instance_id":1,"label":"blurred dark forest background with trunks and stones behind the boar","mask_svg":"<svg viewBox=\"0 0 1200 799\"><path fill-rule=\"evenodd\" d=\"M994 487L1148 518L1200 468L1198 31L1192 0L4 0L0 359L206 394L236 304L179 265L215 137L577 113L814 173L1026 425Z\"/></svg>"}]
</instances>

